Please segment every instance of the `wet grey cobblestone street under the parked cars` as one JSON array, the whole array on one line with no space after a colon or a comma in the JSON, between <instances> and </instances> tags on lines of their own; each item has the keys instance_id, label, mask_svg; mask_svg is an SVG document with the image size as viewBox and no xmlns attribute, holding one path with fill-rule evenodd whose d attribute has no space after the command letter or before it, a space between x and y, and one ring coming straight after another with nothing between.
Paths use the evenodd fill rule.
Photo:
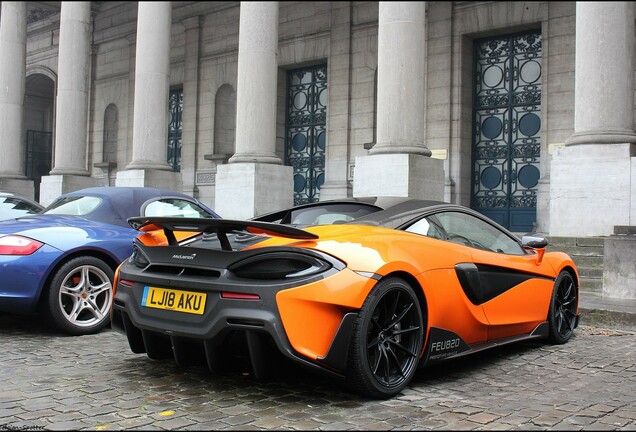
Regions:
<instances>
[{"instance_id":1,"label":"wet grey cobblestone street under the parked cars","mask_svg":"<svg viewBox=\"0 0 636 432\"><path fill-rule=\"evenodd\" d=\"M304 371L213 376L133 354L112 330L67 337L0 315L0 430L636 430L636 334L580 326L423 369L361 399Z\"/></svg>"}]
</instances>

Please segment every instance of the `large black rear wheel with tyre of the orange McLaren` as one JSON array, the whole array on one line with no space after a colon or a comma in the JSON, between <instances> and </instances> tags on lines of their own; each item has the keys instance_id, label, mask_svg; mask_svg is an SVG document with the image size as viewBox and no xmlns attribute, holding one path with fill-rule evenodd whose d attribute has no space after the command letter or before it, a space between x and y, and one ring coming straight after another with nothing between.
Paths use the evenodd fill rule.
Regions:
<instances>
[{"instance_id":1,"label":"large black rear wheel with tyre of the orange McLaren","mask_svg":"<svg viewBox=\"0 0 636 432\"><path fill-rule=\"evenodd\" d=\"M398 394L417 371L423 343L424 320L413 288L401 278L381 280L356 318L347 383L374 398Z\"/></svg>"}]
</instances>

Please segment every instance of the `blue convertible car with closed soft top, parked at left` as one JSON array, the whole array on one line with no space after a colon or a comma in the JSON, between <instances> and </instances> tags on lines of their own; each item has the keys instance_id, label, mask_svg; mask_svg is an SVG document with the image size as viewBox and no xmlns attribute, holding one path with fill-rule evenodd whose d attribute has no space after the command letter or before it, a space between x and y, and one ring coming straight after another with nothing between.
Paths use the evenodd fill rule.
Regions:
<instances>
[{"instance_id":1,"label":"blue convertible car with closed soft top, parked at left","mask_svg":"<svg viewBox=\"0 0 636 432\"><path fill-rule=\"evenodd\" d=\"M114 271L138 234L127 222L133 216L219 217L170 190L94 187L0 221L0 312L41 312L71 335L107 326Z\"/></svg>"}]
</instances>

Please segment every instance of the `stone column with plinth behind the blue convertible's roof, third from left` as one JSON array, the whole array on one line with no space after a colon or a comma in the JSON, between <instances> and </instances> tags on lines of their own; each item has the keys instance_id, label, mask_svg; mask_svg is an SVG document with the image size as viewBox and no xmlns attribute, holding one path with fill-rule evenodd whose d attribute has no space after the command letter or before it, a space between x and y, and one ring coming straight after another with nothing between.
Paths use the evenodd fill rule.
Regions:
<instances>
[{"instance_id":1,"label":"stone column with plinth behind the blue convertible's roof, third from left","mask_svg":"<svg viewBox=\"0 0 636 432\"><path fill-rule=\"evenodd\" d=\"M132 161L117 186L181 189L167 156L171 28L172 2L139 2Z\"/></svg>"}]
</instances>

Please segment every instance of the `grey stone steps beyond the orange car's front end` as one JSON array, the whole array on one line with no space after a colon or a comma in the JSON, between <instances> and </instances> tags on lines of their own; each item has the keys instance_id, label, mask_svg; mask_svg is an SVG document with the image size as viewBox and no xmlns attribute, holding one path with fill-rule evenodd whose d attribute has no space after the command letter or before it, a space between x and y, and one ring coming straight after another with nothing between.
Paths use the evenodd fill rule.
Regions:
<instances>
[{"instance_id":1,"label":"grey stone steps beyond the orange car's front end","mask_svg":"<svg viewBox=\"0 0 636 432\"><path fill-rule=\"evenodd\" d=\"M565 252L576 264L581 278L581 292L603 294L604 237L547 237L547 251Z\"/></svg>"}]
</instances>

